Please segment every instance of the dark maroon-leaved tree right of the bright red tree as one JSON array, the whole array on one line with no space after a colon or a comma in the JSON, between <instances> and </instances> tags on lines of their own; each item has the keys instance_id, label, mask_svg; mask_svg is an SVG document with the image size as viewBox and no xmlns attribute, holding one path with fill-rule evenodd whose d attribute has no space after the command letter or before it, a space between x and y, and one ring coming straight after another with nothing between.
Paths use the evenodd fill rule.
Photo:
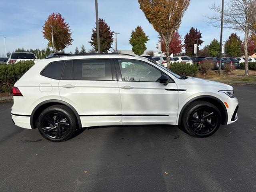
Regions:
<instances>
[{"instance_id":1,"label":"dark maroon-leaved tree right of the bright red tree","mask_svg":"<svg viewBox=\"0 0 256 192\"><path fill-rule=\"evenodd\" d=\"M184 47L185 52L187 56L193 56L194 55L194 44L196 44L196 40L198 39L197 44L197 51L199 45L202 45L204 41L202 41L202 33L200 33L200 30L198 31L197 28L194 27L190 28L189 32L186 33L184 38Z\"/></svg>"}]
</instances>

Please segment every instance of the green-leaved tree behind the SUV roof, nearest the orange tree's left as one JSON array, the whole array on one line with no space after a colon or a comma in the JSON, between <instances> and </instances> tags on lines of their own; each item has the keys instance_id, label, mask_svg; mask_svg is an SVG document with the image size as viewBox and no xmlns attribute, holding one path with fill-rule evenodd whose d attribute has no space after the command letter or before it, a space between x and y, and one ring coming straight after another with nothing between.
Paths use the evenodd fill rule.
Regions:
<instances>
[{"instance_id":1,"label":"green-leaved tree behind the SUV roof, nearest the orange tree's left","mask_svg":"<svg viewBox=\"0 0 256 192\"><path fill-rule=\"evenodd\" d=\"M148 36L142 30L141 26L137 26L135 31L132 31L131 38L129 40L130 45L132 45L132 51L136 55L142 55L146 48L146 42L148 41Z\"/></svg>"}]
</instances>

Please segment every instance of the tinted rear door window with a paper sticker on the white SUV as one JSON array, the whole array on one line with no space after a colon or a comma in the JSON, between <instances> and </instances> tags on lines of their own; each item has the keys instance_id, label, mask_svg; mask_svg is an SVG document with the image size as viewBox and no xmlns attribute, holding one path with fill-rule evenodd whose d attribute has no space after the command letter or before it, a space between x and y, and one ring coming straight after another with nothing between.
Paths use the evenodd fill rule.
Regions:
<instances>
[{"instance_id":1,"label":"tinted rear door window with a paper sticker on the white SUV","mask_svg":"<svg viewBox=\"0 0 256 192\"><path fill-rule=\"evenodd\" d=\"M74 60L75 80L112 81L111 60Z\"/></svg>"}]
</instances>

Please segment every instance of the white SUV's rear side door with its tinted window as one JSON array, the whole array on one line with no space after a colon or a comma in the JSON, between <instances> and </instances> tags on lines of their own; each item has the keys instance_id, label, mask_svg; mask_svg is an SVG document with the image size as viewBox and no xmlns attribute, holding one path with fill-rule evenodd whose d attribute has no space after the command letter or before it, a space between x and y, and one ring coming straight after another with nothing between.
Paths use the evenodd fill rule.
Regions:
<instances>
[{"instance_id":1,"label":"white SUV's rear side door with its tinted window","mask_svg":"<svg viewBox=\"0 0 256 192\"><path fill-rule=\"evenodd\" d=\"M122 125L114 60L68 60L59 83L60 96L78 112L82 126Z\"/></svg>"}]
</instances>

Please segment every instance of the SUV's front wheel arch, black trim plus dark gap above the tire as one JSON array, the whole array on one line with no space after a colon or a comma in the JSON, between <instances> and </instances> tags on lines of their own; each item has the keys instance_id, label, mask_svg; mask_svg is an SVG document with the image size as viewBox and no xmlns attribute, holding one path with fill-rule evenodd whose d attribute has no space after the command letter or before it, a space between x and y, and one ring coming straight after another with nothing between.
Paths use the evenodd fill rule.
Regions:
<instances>
[{"instance_id":1,"label":"SUV's front wheel arch, black trim plus dark gap above the tire","mask_svg":"<svg viewBox=\"0 0 256 192\"><path fill-rule=\"evenodd\" d=\"M224 105L224 103L214 97L214 96L210 96L210 95L201 95L201 96L197 96L195 98L192 98L191 100L189 100L183 107L182 107L182 110L180 111L180 115L179 115L179 119L178 119L178 125L181 124L181 120L182 120L182 115L183 115L183 112L184 110L186 109L186 107L194 102L194 101L198 101L198 100L202 100L202 101L207 101L207 102L210 102L211 104L214 104L219 110L220 110L220 114L221 114L221 124L222 125L225 125L227 124L228 122L228 112L227 112L227 109L226 109L226 106Z\"/></svg>"}]
</instances>

